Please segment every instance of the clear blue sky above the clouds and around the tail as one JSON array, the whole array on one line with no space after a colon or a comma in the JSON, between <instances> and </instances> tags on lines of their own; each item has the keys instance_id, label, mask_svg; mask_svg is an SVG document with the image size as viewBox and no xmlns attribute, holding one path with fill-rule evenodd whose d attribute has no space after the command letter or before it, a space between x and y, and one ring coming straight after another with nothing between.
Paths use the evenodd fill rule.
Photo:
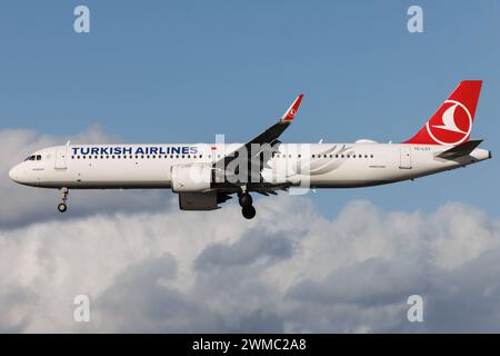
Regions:
<instances>
[{"instance_id":1,"label":"clear blue sky above the clouds and around the tail","mask_svg":"<svg viewBox=\"0 0 500 356\"><path fill-rule=\"evenodd\" d=\"M419 4L424 33L407 31ZM73 8L91 33L72 30ZM399 141L461 79L483 79L472 136L500 152L498 1L2 1L0 128L61 137L92 125L127 142L246 141L297 93L283 141ZM347 201L432 210L460 200L499 216L490 160L414 182L320 190Z\"/></svg>"}]
</instances>

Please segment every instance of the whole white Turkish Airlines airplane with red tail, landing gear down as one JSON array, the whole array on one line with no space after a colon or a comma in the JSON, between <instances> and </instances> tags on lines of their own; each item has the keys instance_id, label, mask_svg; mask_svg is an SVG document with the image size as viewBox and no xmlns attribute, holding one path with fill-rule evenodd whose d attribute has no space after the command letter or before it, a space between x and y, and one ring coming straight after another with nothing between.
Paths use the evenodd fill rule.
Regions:
<instances>
[{"instance_id":1,"label":"whole white Turkish Airlines airplane with red tail, landing gear down","mask_svg":"<svg viewBox=\"0 0 500 356\"><path fill-rule=\"evenodd\" d=\"M242 215L256 216L250 195L290 189L354 188L413 180L490 159L470 140L481 80L463 80L412 138L400 144L282 144L299 95L284 115L247 144L71 145L30 155L9 171L21 185L70 189L171 189L182 210L214 210L238 196Z\"/></svg>"}]
</instances>

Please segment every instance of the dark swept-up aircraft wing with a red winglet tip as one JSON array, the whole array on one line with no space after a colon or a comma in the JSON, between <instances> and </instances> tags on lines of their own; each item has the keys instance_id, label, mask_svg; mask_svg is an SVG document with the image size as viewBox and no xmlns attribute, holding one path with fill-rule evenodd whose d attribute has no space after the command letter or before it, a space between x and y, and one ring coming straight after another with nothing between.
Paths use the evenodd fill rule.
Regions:
<instances>
[{"instance_id":1,"label":"dark swept-up aircraft wing with a red winglet tip","mask_svg":"<svg viewBox=\"0 0 500 356\"><path fill-rule=\"evenodd\" d=\"M249 162L249 171L259 171L262 167L260 167L258 170L250 169L254 165L260 165L266 162L269 158L272 157L272 147L277 144L280 144L278 138L283 134L283 131L290 126L290 123L293 121L293 118L299 110L300 102L302 101L303 95L299 95L297 99L292 102L292 105L288 108L287 111L284 111L283 116L279 119L277 123L268 128L266 131L260 134L259 136L254 137L252 140L248 141L243 146L241 146L236 151L231 152L230 155L221 158L219 161L214 164L216 168L226 168L232 160L234 160L238 157L247 156L248 162ZM266 145L267 144L267 145ZM263 147L259 150L253 149L252 146L256 148L254 145L260 145ZM263 154L263 155L262 155ZM259 158L260 159L256 159ZM263 157L263 159L262 159Z\"/></svg>"}]
</instances>

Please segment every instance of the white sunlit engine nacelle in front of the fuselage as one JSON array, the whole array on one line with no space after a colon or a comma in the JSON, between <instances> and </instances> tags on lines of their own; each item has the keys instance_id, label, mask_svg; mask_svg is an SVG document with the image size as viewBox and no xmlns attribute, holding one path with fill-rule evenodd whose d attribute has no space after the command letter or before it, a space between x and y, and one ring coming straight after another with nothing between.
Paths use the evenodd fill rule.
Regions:
<instances>
[{"instance_id":1,"label":"white sunlit engine nacelle in front of the fuselage","mask_svg":"<svg viewBox=\"0 0 500 356\"><path fill-rule=\"evenodd\" d=\"M173 192L202 192L210 189L212 167L202 164L177 165L170 171Z\"/></svg>"}]
</instances>

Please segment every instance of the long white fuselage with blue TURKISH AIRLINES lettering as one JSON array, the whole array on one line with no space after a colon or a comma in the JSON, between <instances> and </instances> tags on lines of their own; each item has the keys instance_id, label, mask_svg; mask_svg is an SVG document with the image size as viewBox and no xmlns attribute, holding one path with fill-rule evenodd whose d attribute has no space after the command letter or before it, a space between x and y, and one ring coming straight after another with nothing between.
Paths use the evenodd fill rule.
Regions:
<instances>
[{"instance_id":1,"label":"long white fuselage with blue TURKISH AIRLINES lettering","mask_svg":"<svg viewBox=\"0 0 500 356\"><path fill-rule=\"evenodd\" d=\"M17 182L42 188L171 188L176 165L213 165L241 144L76 145L34 152L10 171ZM413 179L491 158L476 148L453 160L451 146L406 144L281 144L262 170L266 184L348 188Z\"/></svg>"}]
</instances>

